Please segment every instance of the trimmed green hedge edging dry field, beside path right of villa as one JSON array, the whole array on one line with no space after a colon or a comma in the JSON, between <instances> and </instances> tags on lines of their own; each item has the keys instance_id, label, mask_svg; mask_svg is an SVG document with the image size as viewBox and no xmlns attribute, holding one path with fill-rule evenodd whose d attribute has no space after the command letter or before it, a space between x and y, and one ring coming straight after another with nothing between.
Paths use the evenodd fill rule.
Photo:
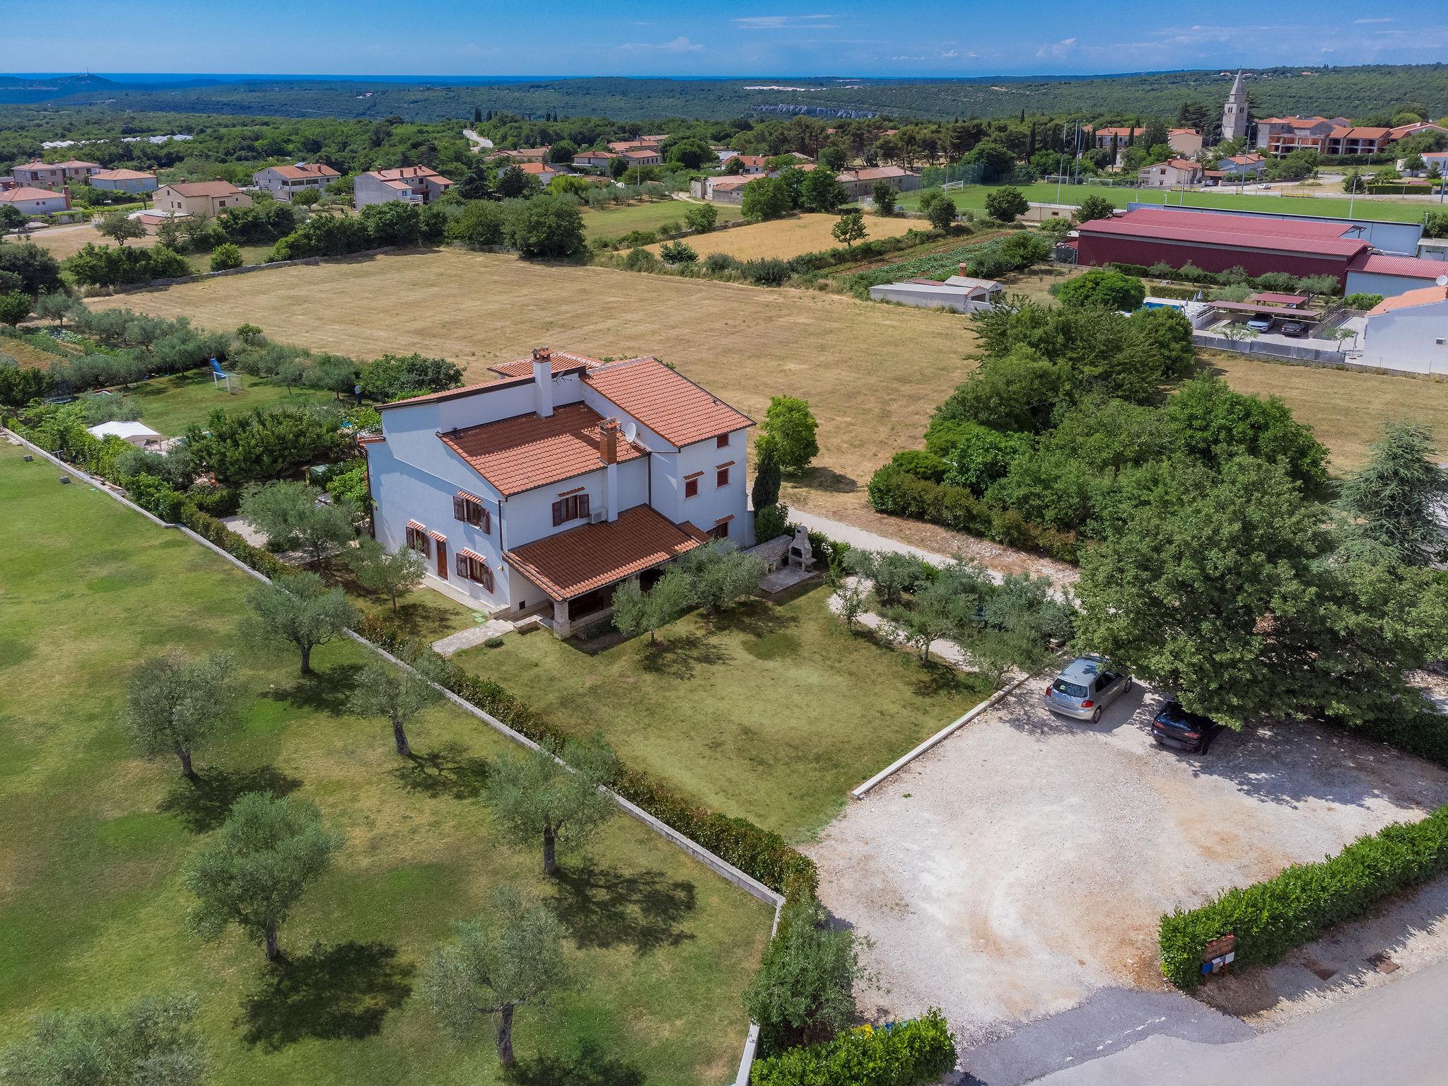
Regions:
<instances>
[{"instance_id":1,"label":"trimmed green hedge edging dry field, beside path right of villa","mask_svg":"<svg viewBox=\"0 0 1448 1086\"><path fill-rule=\"evenodd\" d=\"M1061 562L1077 556L1073 531L1034 524L1015 510L988 505L964 487L921 479L889 463L870 476L866 492L876 513L924 520Z\"/></svg>"}]
</instances>

